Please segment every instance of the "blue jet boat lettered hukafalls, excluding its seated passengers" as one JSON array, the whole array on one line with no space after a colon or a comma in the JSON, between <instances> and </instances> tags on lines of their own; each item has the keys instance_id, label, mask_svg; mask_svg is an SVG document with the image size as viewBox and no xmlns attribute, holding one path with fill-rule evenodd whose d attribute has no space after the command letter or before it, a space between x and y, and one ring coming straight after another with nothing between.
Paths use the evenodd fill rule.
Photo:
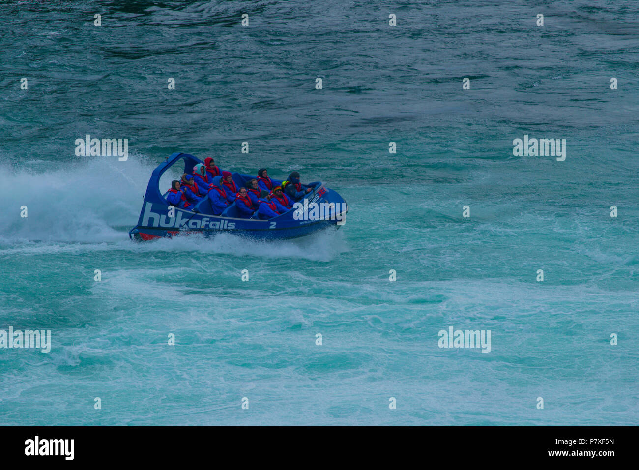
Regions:
<instances>
[{"instance_id":1,"label":"blue jet boat lettered hukafalls, excluding its seated passengers","mask_svg":"<svg viewBox=\"0 0 639 470\"><path fill-rule=\"evenodd\" d=\"M167 169L180 162L183 162L184 173L187 174L197 164L203 164L188 153L173 153L166 162L153 170L137 225L129 231L131 239L152 240L190 233L210 236L221 232L255 239L293 239L344 224L348 212L346 201L321 182L302 185L302 188L310 188L311 191L296 201L293 208L270 219L259 218L258 210L249 218L242 217L236 201L221 214L215 215L212 213L210 194L206 194L203 200L192 207L175 207L167 200L169 191L164 194L161 192L160 177ZM231 173L231 177L238 188L245 187L246 182L255 178L240 173ZM274 185L282 184L281 180L272 179L272 182Z\"/></svg>"}]
</instances>

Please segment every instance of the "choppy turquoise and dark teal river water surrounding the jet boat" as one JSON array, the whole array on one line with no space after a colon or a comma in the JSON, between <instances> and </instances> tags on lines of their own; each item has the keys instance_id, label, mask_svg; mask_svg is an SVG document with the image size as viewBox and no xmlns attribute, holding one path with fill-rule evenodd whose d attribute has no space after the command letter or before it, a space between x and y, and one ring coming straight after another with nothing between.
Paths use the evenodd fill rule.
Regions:
<instances>
[{"instance_id":1,"label":"choppy turquoise and dark teal river water surrounding the jet boat","mask_svg":"<svg viewBox=\"0 0 639 470\"><path fill-rule=\"evenodd\" d=\"M636 424L638 19L594 0L3 3L0 329L50 329L52 349L0 349L0 423ZM86 134L128 138L128 160L76 157ZM515 157L524 134L565 138L566 161ZM347 223L130 242L177 151L322 180ZM450 326L491 351L440 349Z\"/></svg>"}]
</instances>

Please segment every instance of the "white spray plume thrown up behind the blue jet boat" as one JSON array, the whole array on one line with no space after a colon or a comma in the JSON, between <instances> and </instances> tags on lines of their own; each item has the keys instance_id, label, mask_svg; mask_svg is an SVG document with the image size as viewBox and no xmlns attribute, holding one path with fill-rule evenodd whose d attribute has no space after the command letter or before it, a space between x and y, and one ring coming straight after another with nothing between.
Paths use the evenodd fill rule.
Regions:
<instances>
[{"instance_id":1,"label":"white spray plume thrown up behind the blue jet boat","mask_svg":"<svg viewBox=\"0 0 639 470\"><path fill-rule=\"evenodd\" d=\"M46 167L46 169L43 168ZM0 160L0 243L28 240L114 241L114 226L135 225L153 166L130 156L88 157L75 164L46 162L29 168ZM20 217L20 207L28 217ZM133 223L132 223L133 221Z\"/></svg>"}]
</instances>

